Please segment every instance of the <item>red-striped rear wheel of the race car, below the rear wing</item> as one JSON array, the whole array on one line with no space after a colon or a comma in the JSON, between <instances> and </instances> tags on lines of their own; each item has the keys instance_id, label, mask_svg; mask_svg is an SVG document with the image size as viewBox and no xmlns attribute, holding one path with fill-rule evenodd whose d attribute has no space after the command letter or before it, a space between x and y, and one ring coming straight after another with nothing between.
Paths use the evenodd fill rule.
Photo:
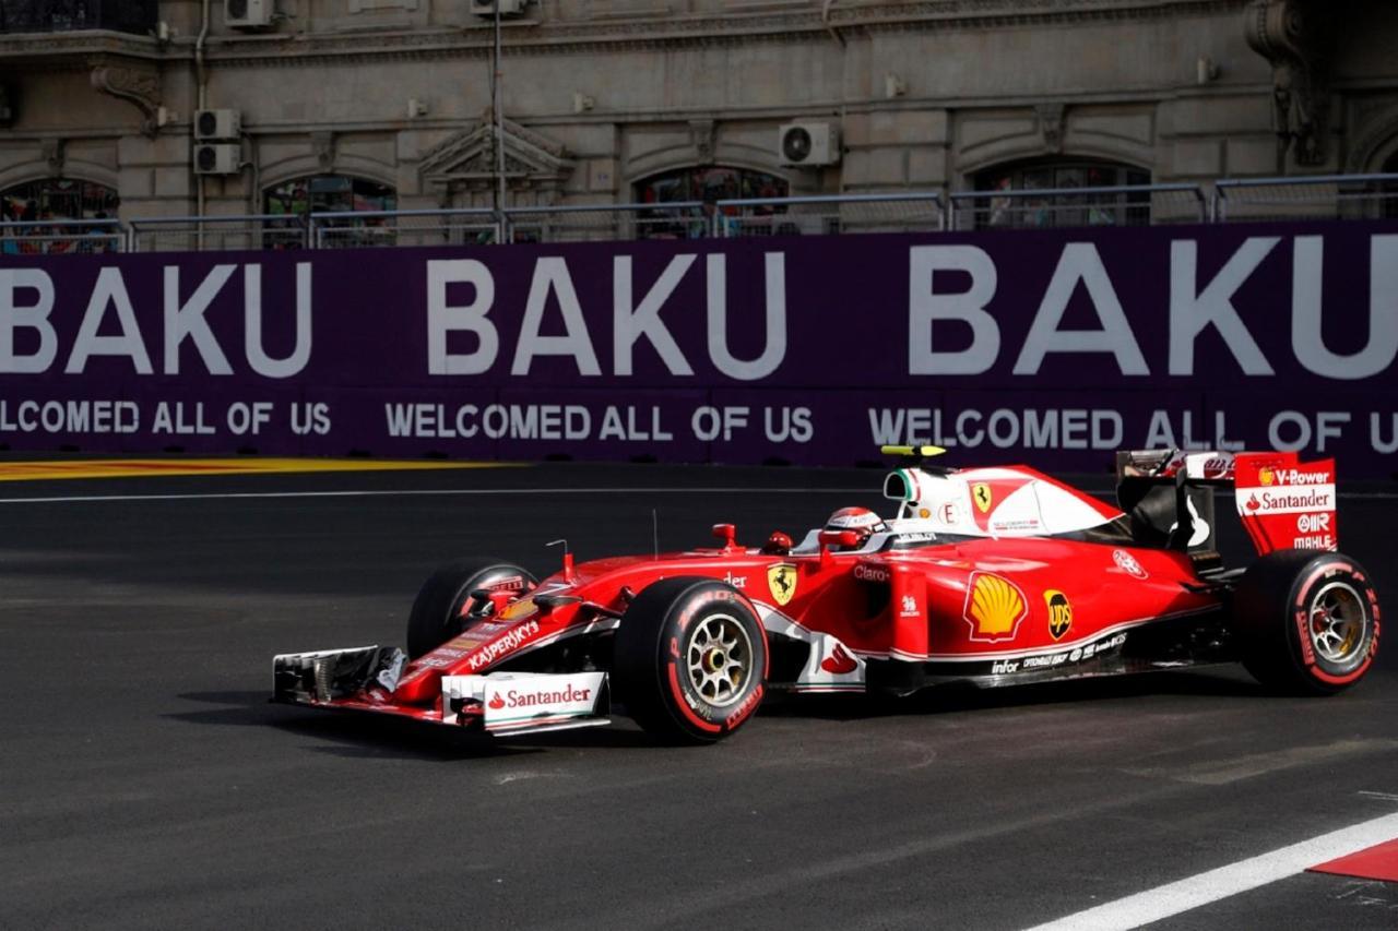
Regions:
<instances>
[{"instance_id":1,"label":"red-striped rear wheel of the race car, below the rear wing","mask_svg":"<svg viewBox=\"0 0 1398 931\"><path fill-rule=\"evenodd\" d=\"M1378 596L1369 573L1335 552L1279 549L1258 559L1233 593L1243 665L1269 688L1334 695L1378 653Z\"/></svg>"}]
</instances>

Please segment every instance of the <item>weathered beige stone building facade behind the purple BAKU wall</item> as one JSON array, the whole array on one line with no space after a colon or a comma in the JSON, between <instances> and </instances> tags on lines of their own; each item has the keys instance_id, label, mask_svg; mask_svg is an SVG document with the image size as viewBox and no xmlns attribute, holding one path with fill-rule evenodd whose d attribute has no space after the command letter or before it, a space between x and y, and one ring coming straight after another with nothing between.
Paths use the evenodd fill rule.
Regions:
<instances>
[{"instance_id":1,"label":"weathered beige stone building facade behind the purple BAKU wall","mask_svg":"<svg viewBox=\"0 0 1398 931\"><path fill-rule=\"evenodd\" d=\"M513 204L1398 171L1384 0L502 4ZM488 204L482 6L0 0L7 218ZM240 122L224 173L201 102ZM829 164L786 164L791 123Z\"/></svg>"}]
</instances>

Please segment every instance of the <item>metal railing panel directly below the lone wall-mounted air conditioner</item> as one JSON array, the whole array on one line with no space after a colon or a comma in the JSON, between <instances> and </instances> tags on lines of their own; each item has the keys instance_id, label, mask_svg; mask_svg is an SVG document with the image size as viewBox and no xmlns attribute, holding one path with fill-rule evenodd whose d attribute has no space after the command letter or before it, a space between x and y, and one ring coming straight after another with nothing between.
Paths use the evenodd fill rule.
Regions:
<instances>
[{"instance_id":1,"label":"metal railing panel directly below the lone wall-mounted air conditioner","mask_svg":"<svg viewBox=\"0 0 1398 931\"><path fill-rule=\"evenodd\" d=\"M713 236L928 232L946 228L939 192L720 200Z\"/></svg>"}]
</instances>

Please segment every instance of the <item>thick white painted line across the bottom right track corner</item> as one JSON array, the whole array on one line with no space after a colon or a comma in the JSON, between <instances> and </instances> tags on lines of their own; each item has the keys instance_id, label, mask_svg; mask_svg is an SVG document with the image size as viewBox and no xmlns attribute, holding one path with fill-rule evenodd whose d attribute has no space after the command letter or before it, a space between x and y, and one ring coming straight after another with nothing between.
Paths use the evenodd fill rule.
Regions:
<instances>
[{"instance_id":1,"label":"thick white painted line across the bottom right track corner","mask_svg":"<svg viewBox=\"0 0 1398 931\"><path fill-rule=\"evenodd\" d=\"M1198 909L1219 899L1285 879L1307 867L1352 854L1398 836L1398 814L1303 840L1290 847L1240 860L1166 886L1107 902L1029 931L1125 931Z\"/></svg>"}]
</instances>

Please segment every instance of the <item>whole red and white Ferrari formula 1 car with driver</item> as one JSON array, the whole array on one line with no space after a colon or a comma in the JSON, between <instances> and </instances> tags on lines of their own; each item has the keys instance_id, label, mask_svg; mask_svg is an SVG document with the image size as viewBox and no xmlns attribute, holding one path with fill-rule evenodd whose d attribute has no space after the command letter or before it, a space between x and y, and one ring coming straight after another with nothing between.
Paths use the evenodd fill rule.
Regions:
<instances>
[{"instance_id":1,"label":"whole red and white Ferrari formula 1 car with driver","mask_svg":"<svg viewBox=\"0 0 1398 931\"><path fill-rule=\"evenodd\" d=\"M836 512L794 544L716 526L719 545L618 556L537 580L493 559L438 569L407 651L275 657L275 698L521 734L607 723L707 742L772 691L910 693L944 682L1241 661L1314 695L1355 684L1378 649L1369 575L1335 552L1334 463L1295 453L1118 453L1123 510L1023 467L924 466L885 447L896 514ZM1215 548L1232 485L1258 559Z\"/></svg>"}]
</instances>

